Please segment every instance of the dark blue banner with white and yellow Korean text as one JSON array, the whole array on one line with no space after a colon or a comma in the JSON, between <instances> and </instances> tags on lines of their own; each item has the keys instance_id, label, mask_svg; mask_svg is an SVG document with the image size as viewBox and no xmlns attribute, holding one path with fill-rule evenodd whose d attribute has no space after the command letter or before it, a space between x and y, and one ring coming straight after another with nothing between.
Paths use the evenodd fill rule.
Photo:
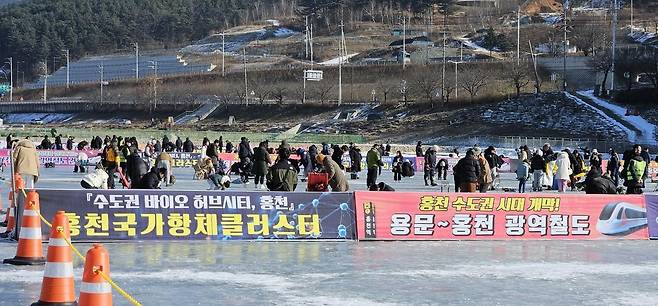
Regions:
<instances>
[{"instance_id":1,"label":"dark blue banner with white and yellow Korean text","mask_svg":"<svg viewBox=\"0 0 658 306\"><path fill-rule=\"evenodd\" d=\"M354 239L350 193L39 190L73 240ZM44 236L49 229L42 227Z\"/></svg>"}]
</instances>

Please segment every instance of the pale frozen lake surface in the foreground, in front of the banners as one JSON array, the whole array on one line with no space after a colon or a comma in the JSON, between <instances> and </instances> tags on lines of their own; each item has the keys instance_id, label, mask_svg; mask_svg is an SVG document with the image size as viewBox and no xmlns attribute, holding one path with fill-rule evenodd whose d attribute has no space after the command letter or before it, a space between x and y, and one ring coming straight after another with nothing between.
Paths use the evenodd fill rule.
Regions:
<instances>
[{"instance_id":1,"label":"pale frozen lake surface in the foreground, in front of the banners","mask_svg":"<svg viewBox=\"0 0 658 306\"><path fill-rule=\"evenodd\" d=\"M86 250L90 245L79 245ZM656 305L651 241L109 244L144 305ZM0 257L14 245L0 244ZM74 262L76 290L82 267ZM0 305L38 300L43 267L1 267ZM115 305L128 305L114 293Z\"/></svg>"}]
</instances>

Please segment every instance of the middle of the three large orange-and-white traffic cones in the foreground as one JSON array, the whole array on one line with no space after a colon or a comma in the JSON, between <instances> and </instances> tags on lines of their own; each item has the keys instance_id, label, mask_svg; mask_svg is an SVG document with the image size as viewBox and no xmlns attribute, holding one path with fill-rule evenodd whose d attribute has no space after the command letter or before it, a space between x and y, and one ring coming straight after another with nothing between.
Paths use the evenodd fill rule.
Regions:
<instances>
[{"instance_id":1,"label":"middle of the three large orange-and-white traffic cones in the foreground","mask_svg":"<svg viewBox=\"0 0 658 306\"><path fill-rule=\"evenodd\" d=\"M73 254L66 240L71 239L69 218L58 211L48 242L48 262L43 273L41 296L32 306L78 305L73 284Z\"/></svg>"}]
</instances>

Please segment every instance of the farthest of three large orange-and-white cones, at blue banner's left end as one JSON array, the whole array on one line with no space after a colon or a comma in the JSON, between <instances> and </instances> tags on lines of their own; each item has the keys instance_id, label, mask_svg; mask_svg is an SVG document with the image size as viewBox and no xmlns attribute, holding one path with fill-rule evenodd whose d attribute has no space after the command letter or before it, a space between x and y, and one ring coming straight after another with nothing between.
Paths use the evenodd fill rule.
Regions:
<instances>
[{"instance_id":1,"label":"farthest of three large orange-and-white cones, at blue banner's left end","mask_svg":"<svg viewBox=\"0 0 658 306\"><path fill-rule=\"evenodd\" d=\"M12 265L43 265L45 258L43 258L43 247L41 246L39 194L36 191L30 191L25 203L16 256L2 262Z\"/></svg>"}]
</instances>

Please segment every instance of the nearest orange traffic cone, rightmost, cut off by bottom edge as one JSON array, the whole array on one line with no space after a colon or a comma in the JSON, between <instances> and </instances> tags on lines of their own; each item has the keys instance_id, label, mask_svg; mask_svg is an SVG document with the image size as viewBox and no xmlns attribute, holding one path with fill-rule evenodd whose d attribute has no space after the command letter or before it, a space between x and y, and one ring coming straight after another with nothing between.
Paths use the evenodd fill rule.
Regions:
<instances>
[{"instance_id":1,"label":"nearest orange traffic cone, rightmost, cut off by bottom edge","mask_svg":"<svg viewBox=\"0 0 658 306\"><path fill-rule=\"evenodd\" d=\"M102 244L87 251L80 287L80 306L112 306L112 287L96 270L110 276L110 254Z\"/></svg>"}]
</instances>

